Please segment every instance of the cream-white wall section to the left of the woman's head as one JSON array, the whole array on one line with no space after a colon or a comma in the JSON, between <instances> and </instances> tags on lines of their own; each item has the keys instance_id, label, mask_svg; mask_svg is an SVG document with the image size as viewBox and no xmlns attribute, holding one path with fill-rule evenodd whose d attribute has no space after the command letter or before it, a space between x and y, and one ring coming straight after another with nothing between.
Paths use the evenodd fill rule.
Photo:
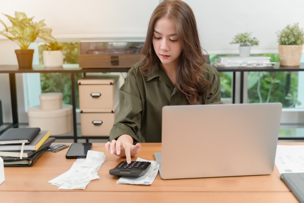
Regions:
<instances>
[{"instance_id":1,"label":"cream-white wall section to the left of the woman's head","mask_svg":"<svg viewBox=\"0 0 304 203\"><path fill-rule=\"evenodd\" d=\"M158 0L10 0L1 13L25 12L53 29L57 38L142 37ZM6 23L5 16L0 15Z\"/></svg>"}]
</instances>

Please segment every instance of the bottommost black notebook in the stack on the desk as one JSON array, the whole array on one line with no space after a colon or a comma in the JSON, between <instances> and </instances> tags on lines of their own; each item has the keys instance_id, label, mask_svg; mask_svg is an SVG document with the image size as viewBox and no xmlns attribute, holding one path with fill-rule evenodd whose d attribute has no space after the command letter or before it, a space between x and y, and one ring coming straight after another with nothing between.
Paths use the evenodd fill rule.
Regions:
<instances>
[{"instance_id":1,"label":"bottommost black notebook in the stack on the desk","mask_svg":"<svg viewBox=\"0 0 304 203\"><path fill-rule=\"evenodd\" d=\"M39 157L43 154L43 152L48 147L45 147L41 149L40 151L36 152L32 156L29 156L27 158L18 158L18 157L10 157L10 156L2 156L4 167L11 167L11 166L33 166L33 164L39 159Z\"/></svg>"}]
</instances>

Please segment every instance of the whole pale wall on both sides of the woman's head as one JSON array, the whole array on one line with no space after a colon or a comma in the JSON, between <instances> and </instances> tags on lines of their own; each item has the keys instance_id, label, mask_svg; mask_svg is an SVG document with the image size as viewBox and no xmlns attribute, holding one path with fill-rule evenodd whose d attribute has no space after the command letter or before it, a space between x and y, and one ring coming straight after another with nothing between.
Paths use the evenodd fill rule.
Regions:
<instances>
[{"instance_id":1,"label":"whole pale wall on both sides of the woman's head","mask_svg":"<svg viewBox=\"0 0 304 203\"><path fill-rule=\"evenodd\" d=\"M150 15L159 0L10 0L0 1L1 13L25 12L46 19L58 39L145 37ZM193 9L203 47L209 54L238 53L229 42L239 32L253 32L260 46L252 53L277 52L275 32L287 24L304 27L303 0L185 0ZM0 19L8 22L0 14ZM8 22L9 23L9 22ZM0 29L2 25L0 25ZM0 37L0 39L4 39ZM1 43L1 42L0 42ZM0 50L1 52L1 50Z\"/></svg>"}]
</instances>

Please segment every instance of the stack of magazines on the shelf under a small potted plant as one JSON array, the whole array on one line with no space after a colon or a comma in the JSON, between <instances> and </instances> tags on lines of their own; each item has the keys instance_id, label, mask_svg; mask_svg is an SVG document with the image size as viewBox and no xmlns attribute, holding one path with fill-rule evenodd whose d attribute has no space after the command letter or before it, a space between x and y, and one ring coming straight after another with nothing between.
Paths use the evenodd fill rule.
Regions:
<instances>
[{"instance_id":1,"label":"stack of magazines on the shelf under a small potted plant","mask_svg":"<svg viewBox=\"0 0 304 203\"><path fill-rule=\"evenodd\" d=\"M270 62L270 57L268 56L250 56L250 57L219 57L215 60L214 66L217 68L224 67L273 67L276 62Z\"/></svg>"}]
</instances>

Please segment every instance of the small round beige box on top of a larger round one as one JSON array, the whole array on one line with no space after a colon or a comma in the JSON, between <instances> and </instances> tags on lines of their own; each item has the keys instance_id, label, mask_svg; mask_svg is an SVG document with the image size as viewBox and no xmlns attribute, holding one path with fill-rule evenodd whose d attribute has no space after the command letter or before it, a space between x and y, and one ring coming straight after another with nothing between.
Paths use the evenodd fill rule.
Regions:
<instances>
[{"instance_id":1,"label":"small round beige box on top of a larger round one","mask_svg":"<svg viewBox=\"0 0 304 203\"><path fill-rule=\"evenodd\" d=\"M48 92L39 95L40 109L57 110L62 108L62 93Z\"/></svg>"}]
</instances>

